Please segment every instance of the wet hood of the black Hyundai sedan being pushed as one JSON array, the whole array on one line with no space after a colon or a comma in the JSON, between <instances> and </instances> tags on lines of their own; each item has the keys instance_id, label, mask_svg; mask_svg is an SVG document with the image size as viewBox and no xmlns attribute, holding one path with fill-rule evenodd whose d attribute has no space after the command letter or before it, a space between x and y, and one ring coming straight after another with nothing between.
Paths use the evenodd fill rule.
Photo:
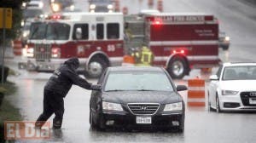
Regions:
<instances>
[{"instance_id":1,"label":"wet hood of the black Hyundai sedan being pushed","mask_svg":"<svg viewBox=\"0 0 256 143\"><path fill-rule=\"evenodd\" d=\"M166 91L113 91L104 92L102 100L114 103L175 103L182 97L175 92Z\"/></svg>"}]
</instances>

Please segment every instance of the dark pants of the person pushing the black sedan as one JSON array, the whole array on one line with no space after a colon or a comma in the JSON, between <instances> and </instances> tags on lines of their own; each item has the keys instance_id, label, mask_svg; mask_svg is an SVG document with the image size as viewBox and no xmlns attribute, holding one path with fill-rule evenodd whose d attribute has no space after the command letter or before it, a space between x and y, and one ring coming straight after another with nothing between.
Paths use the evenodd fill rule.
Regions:
<instances>
[{"instance_id":1,"label":"dark pants of the person pushing the black sedan","mask_svg":"<svg viewBox=\"0 0 256 143\"><path fill-rule=\"evenodd\" d=\"M44 89L44 112L38 117L36 127L41 128L49 117L55 113L53 128L61 129L64 114L64 100L61 94Z\"/></svg>"}]
</instances>

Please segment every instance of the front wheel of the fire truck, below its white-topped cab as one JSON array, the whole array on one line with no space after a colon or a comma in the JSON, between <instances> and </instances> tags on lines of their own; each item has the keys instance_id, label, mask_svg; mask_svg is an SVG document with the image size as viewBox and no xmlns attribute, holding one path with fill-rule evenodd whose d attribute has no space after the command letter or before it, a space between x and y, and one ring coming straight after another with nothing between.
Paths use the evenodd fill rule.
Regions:
<instances>
[{"instance_id":1,"label":"front wheel of the fire truck, below its white-topped cab","mask_svg":"<svg viewBox=\"0 0 256 143\"><path fill-rule=\"evenodd\" d=\"M92 59L88 66L89 77L100 77L105 68L107 63L104 60L98 57Z\"/></svg>"}]
</instances>

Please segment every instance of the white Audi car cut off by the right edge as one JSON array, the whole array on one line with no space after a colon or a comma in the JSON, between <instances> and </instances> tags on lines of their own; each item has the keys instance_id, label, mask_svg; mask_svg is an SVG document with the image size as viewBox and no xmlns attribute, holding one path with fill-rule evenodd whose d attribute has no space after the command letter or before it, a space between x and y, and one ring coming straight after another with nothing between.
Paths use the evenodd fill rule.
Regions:
<instances>
[{"instance_id":1,"label":"white Audi car cut off by the right edge","mask_svg":"<svg viewBox=\"0 0 256 143\"><path fill-rule=\"evenodd\" d=\"M224 63L210 80L210 110L256 111L256 63Z\"/></svg>"}]
</instances>

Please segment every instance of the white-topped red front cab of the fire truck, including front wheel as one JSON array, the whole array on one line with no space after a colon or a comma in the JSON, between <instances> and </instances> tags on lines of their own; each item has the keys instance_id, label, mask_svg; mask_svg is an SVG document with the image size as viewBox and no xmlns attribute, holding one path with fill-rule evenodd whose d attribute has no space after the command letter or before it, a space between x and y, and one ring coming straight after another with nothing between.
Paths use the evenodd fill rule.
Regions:
<instances>
[{"instance_id":1,"label":"white-topped red front cab of the fire truck, including front wheel","mask_svg":"<svg viewBox=\"0 0 256 143\"><path fill-rule=\"evenodd\" d=\"M76 56L80 72L99 77L107 66L122 63L123 14L63 13L32 23L27 41L26 68L53 71Z\"/></svg>"}]
</instances>

